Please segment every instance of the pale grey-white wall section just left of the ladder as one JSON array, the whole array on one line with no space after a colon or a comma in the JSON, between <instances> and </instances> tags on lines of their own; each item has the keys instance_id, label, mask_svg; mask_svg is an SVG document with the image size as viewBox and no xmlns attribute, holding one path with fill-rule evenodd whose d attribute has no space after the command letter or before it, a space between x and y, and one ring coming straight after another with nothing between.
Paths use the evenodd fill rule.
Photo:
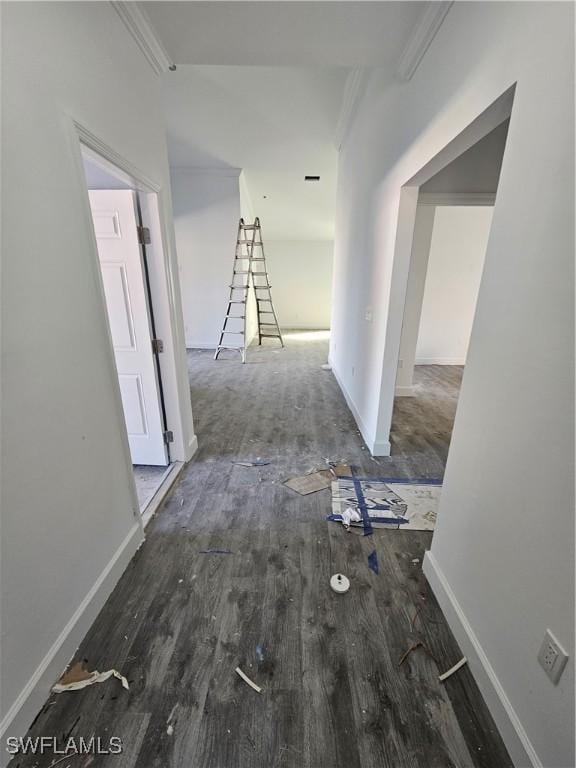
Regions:
<instances>
[{"instance_id":1,"label":"pale grey-white wall section just left of the ladder","mask_svg":"<svg viewBox=\"0 0 576 768\"><path fill-rule=\"evenodd\" d=\"M172 168L170 173L186 346L213 349L234 266L239 171Z\"/></svg>"}]
</instances>

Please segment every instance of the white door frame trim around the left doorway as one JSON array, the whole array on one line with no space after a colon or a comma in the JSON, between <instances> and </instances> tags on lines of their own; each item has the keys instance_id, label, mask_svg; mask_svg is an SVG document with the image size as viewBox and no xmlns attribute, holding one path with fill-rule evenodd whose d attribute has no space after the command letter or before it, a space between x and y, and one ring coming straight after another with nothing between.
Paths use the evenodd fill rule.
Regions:
<instances>
[{"instance_id":1,"label":"white door frame trim around the left doorway","mask_svg":"<svg viewBox=\"0 0 576 768\"><path fill-rule=\"evenodd\" d=\"M184 343L184 326L180 303L180 287L174 246L173 233L169 228L171 198L166 187L152 180L129 160L118 154L112 147L95 136L89 129L73 117L65 116L68 124L73 161L76 166L78 191L83 211L86 232L92 243L95 282L102 299L103 319L109 337L109 362L114 371L116 382L115 400L120 423L124 425L124 411L117 381L114 349L106 317L104 287L100 275L98 248L88 189L84 174L83 156L88 156L117 178L126 181L138 194L142 215L150 229L151 244L146 247L147 266L150 276L150 297L158 337L164 342L164 352L159 355L160 375L164 392L167 429L171 430L174 440L170 444L171 462L189 461L198 449L198 440L194 433L192 409L190 404L190 385ZM125 443L126 464L132 473L132 457L125 427L122 429ZM134 483L133 483L134 485ZM140 517L136 487L133 495L135 510Z\"/></svg>"}]
</instances>

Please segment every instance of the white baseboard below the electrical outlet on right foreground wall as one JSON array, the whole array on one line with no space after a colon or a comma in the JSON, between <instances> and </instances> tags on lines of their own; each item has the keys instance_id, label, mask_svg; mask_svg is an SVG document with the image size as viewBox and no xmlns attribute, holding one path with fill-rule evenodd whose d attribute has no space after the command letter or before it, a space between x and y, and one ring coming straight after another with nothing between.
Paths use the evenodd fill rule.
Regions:
<instances>
[{"instance_id":1,"label":"white baseboard below the electrical outlet on right foreground wall","mask_svg":"<svg viewBox=\"0 0 576 768\"><path fill-rule=\"evenodd\" d=\"M478 637L432 552L426 552L422 570L460 646L460 650L468 659L470 671L478 684L490 714L494 718L512 762L518 768L526 768L527 766L544 768Z\"/></svg>"}]
</instances>

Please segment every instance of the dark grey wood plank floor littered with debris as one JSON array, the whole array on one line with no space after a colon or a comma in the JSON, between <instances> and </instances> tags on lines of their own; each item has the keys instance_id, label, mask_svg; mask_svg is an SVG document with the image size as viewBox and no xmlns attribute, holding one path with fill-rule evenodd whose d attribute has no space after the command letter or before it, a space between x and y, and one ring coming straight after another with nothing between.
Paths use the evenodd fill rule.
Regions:
<instances>
[{"instance_id":1,"label":"dark grey wood plank floor littered with debris","mask_svg":"<svg viewBox=\"0 0 576 768\"><path fill-rule=\"evenodd\" d=\"M62 768L511 766L470 671L438 681L461 654L421 572L431 534L348 534L325 520L329 491L282 485L328 458L368 476L440 477L461 371L418 371L418 398L397 403L394 455L376 463L320 368L326 351L292 340L245 366L190 352L199 453L77 654L121 670L130 690L53 695L30 732L116 735L124 752ZM271 463L231 464L256 457ZM346 595L328 586L337 571ZM418 649L399 665L418 641L434 658Z\"/></svg>"}]
</instances>

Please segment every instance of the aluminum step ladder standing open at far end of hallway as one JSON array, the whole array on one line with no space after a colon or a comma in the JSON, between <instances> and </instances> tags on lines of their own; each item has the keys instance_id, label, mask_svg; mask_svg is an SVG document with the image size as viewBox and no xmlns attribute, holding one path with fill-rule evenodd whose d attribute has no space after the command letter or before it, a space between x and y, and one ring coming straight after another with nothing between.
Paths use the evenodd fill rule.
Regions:
<instances>
[{"instance_id":1,"label":"aluminum step ladder standing open at far end of hallway","mask_svg":"<svg viewBox=\"0 0 576 768\"><path fill-rule=\"evenodd\" d=\"M242 362L246 362L246 315L250 286L252 286L256 300L258 344L262 344L262 339L278 339L280 344L284 346L272 304L270 291L272 286L266 271L262 228L258 217L254 219L254 224L245 224L244 219L240 219L238 224L228 308L218 346L214 353L214 360L218 360L222 350L232 349L240 352ZM234 336L239 337L239 344L233 343Z\"/></svg>"}]
</instances>

